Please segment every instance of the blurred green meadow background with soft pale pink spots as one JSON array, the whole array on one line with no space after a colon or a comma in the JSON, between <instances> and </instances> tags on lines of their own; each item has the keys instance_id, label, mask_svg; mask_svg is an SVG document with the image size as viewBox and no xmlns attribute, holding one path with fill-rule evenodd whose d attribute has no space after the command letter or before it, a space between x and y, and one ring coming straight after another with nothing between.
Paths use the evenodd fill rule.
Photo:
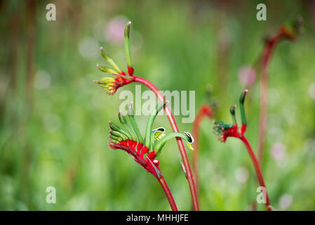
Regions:
<instances>
[{"instance_id":1,"label":"blurred green meadow background with soft pale pink spots","mask_svg":"<svg viewBox=\"0 0 315 225\"><path fill-rule=\"evenodd\" d=\"M55 4L57 20L46 20ZM269 67L267 142L262 172L276 210L315 210L315 1L0 1L0 210L170 210L154 177L121 150L109 150L108 121L118 122L119 93L93 84L104 74L103 46L124 68L123 27L133 23L135 74L161 90L196 91L196 113L212 86L215 119L232 122L229 106L255 70L264 38L301 15L295 42L281 41ZM257 148L260 73L250 85L248 140ZM256 78L256 79L255 79ZM147 90L142 86L142 90ZM180 131L192 131L182 124ZM136 120L144 131L147 117ZM170 126L158 117L154 126ZM200 136L201 210L250 210L258 186L237 139L217 141L212 121ZM187 148L189 158L192 152ZM161 170L180 210L191 210L177 144ZM46 203L46 188L57 203ZM264 210L262 205L257 210Z\"/></svg>"}]
</instances>

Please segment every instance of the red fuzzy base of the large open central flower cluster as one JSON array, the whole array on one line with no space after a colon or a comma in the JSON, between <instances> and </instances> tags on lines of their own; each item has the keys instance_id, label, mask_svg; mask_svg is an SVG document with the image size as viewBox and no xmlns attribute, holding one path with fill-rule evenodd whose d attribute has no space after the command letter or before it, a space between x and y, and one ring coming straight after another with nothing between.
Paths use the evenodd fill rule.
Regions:
<instances>
[{"instance_id":1,"label":"red fuzzy base of the large open central flower cluster","mask_svg":"<svg viewBox=\"0 0 315 225\"><path fill-rule=\"evenodd\" d=\"M109 148L125 150L134 160L138 162L147 172L153 174L156 178L161 178L159 169L159 160L156 160L156 153L153 150L146 158L144 155L149 151L147 146L137 141L127 140L119 143L109 142Z\"/></svg>"}]
</instances>

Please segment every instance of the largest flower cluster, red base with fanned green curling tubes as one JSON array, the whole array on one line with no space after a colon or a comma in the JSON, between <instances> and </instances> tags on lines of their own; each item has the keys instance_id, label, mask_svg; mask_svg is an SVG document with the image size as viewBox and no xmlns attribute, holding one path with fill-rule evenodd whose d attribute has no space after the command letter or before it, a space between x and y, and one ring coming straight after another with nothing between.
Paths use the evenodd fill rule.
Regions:
<instances>
[{"instance_id":1,"label":"largest flower cluster, red base with fanned green curling tubes","mask_svg":"<svg viewBox=\"0 0 315 225\"><path fill-rule=\"evenodd\" d=\"M147 129L145 132L145 139L140 134L135 117L133 116L133 103L128 105L128 119L119 111L119 122L123 125L119 127L113 122L109 122L109 148L125 150L133 157L135 162L138 162L147 172L153 174L156 179L161 179L161 171L159 169L159 160L156 156L161 153L163 146L172 138L180 137L187 142L187 146L192 149L194 139L189 132L184 134L171 132L165 134L165 129L159 127L152 129L156 115L162 110L166 101L160 102L156 105L156 109L149 117L147 122Z\"/></svg>"}]
</instances>

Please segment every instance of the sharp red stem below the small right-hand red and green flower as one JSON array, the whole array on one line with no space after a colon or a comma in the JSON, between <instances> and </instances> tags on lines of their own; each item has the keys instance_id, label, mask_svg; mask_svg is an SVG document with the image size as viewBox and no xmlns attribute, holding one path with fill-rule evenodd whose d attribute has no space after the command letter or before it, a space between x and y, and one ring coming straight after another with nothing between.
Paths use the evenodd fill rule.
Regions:
<instances>
[{"instance_id":1,"label":"sharp red stem below the small right-hand red and green flower","mask_svg":"<svg viewBox=\"0 0 315 225\"><path fill-rule=\"evenodd\" d=\"M266 190L266 207L267 207L267 210L271 210L271 207L270 207L270 202L269 202L269 195L268 195L268 192L267 192L267 188L266 188L266 185L264 184L264 177L262 176L262 171L260 170L260 165L257 161L257 158L253 152L253 148L250 146L250 143L247 141L246 137L245 136L241 136L241 141L243 141L244 145L246 146L246 149L248 151L248 154L250 156L250 159L252 160L253 162L253 166L255 168L255 172L256 172L256 175L257 175L257 179L260 183L260 186L263 186Z\"/></svg>"}]
</instances>

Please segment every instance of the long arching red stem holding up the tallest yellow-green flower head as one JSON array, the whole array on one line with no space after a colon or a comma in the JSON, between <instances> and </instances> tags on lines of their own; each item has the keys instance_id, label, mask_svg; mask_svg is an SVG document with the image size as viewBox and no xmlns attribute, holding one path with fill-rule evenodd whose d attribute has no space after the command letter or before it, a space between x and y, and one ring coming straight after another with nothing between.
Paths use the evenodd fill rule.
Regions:
<instances>
[{"instance_id":1,"label":"long arching red stem holding up the tallest yellow-green flower head","mask_svg":"<svg viewBox=\"0 0 315 225\"><path fill-rule=\"evenodd\" d=\"M144 84L149 89L151 89L154 92L154 94L156 95L156 97L159 99L159 101L164 101L164 97L162 96L159 89L157 89L151 82L149 82L146 79L143 79L141 77L133 77L133 78L134 78L133 79L134 82ZM170 122L170 126L172 127L173 131L179 132L179 129L177 127L175 119L174 119L172 113L170 112L170 108L168 107L168 105L166 105L164 110L166 112L166 116L168 117L168 121ZM194 207L194 210L198 211L199 210L199 204L198 204L198 199L197 199L197 194L196 194L196 187L194 184L194 177L192 175L192 169L190 169L189 160L187 158L185 146L184 146L184 143L182 142L182 139L180 139L180 138L176 138L176 139L177 139L178 148L180 150L180 155L182 157L182 163L185 167L185 174L186 174L186 178L187 178L187 181L189 184L190 194L192 196L192 205Z\"/></svg>"}]
</instances>

